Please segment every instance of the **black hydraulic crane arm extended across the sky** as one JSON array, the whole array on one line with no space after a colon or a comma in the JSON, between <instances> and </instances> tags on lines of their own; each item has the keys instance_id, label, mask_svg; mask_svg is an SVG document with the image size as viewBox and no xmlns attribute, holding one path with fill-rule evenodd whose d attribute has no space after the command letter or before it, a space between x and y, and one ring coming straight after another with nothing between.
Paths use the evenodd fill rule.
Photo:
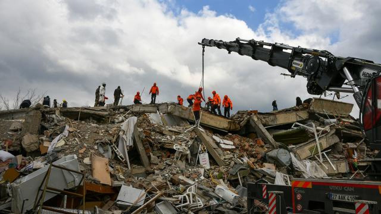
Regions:
<instances>
[{"instance_id":1,"label":"black hydraulic crane arm extended across the sky","mask_svg":"<svg viewBox=\"0 0 381 214\"><path fill-rule=\"evenodd\" d=\"M381 71L381 65L374 64L373 61L336 57L325 50L293 47L280 43L240 38L224 42L204 38L200 44L226 49L229 54L236 52L255 60L265 61L272 66L282 67L291 73L291 77L296 75L306 77L307 91L310 94L320 95L326 90L354 93L359 106L368 78L378 75ZM351 88L342 87L346 81Z\"/></svg>"}]
</instances>

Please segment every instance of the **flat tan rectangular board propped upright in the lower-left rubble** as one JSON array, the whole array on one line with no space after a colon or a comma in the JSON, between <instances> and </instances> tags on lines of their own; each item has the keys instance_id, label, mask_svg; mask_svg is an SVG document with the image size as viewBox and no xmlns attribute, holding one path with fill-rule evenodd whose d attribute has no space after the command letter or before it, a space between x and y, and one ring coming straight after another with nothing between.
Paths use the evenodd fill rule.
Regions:
<instances>
[{"instance_id":1,"label":"flat tan rectangular board propped upright in the lower-left rubble","mask_svg":"<svg viewBox=\"0 0 381 214\"><path fill-rule=\"evenodd\" d=\"M101 184L111 185L109 160L107 158L93 155L91 158L91 169L93 171L93 177L99 179Z\"/></svg>"}]
</instances>

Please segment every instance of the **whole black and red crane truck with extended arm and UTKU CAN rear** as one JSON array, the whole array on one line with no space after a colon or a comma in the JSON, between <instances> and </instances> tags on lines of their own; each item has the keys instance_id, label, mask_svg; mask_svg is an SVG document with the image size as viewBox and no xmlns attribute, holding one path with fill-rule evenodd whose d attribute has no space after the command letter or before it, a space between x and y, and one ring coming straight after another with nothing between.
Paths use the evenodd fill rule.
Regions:
<instances>
[{"instance_id":1,"label":"whole black and red crane truck with extended arm and UTKU CAN rear","mask_svg":"<svg viewBox=\"0 0 381 214\"><path fill-rule=\"evenodd\" d=\"M236 38L231 42L202 39L200 45L216 47L254 60L282 67L307 78L307 92L352 93L360 108L360 124L365 142L381 149L381 64L355 57L339 57L326 50L293 47ZM349 86L349 87L344 87ZM248 183L248 213L381 213L381 152L371 162L370 180L293 179L290 186L265 180ZM276 200L275 200L276 199ZM274 203L276 203L276 209ZM268 204L268 210L260 204Z\"/></svg>"}]
</instances>

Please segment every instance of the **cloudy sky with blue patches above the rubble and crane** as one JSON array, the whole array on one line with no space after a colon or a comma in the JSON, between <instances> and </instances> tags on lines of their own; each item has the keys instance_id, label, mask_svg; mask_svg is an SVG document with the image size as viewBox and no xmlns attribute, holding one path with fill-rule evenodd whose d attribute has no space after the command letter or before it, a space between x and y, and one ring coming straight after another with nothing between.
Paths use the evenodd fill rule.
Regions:
<instances>
[{"instance_id":1,"label":"cloudy sky with blue patches above the rubble and crane","mask_svg":"<svg viewBox=\"0 0 381 214\"><path fill-rule=\"evenodd\" d=\"M144 88L149 102L156 81L158 101L175 101L200 84L202 38L253 38L380 62L380 19L378 0L0 0L0 93L12 99L19 87L37 88L69 106L93 105L105 81L109 102L120 85L127 105ZM274 99L286 108L296 96L311 97L304 78L282 72L205 50L206 95L227 94L234 110L265 112Z\"/></svg>"}]
</instances>

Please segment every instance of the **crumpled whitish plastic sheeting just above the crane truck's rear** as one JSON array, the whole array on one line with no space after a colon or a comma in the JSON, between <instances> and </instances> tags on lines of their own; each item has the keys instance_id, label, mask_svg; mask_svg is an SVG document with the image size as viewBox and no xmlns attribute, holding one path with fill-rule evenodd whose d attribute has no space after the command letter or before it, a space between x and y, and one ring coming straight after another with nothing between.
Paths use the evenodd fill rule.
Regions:
<instances>
[{"instance_id":1,"label":"crumpled whitish plastic sheeting just above the crane truck's rear","mask_svg":"<svg viewBox=\"0 0 381 214\"><path fill-rule=\"evenodd\" d=\"M327 174L315 163L315 161L296 159L293 153L290 153L291 160L294 168L302 172L304 178L323 178L327 177Z\"/></svg>"}]
</instances>

